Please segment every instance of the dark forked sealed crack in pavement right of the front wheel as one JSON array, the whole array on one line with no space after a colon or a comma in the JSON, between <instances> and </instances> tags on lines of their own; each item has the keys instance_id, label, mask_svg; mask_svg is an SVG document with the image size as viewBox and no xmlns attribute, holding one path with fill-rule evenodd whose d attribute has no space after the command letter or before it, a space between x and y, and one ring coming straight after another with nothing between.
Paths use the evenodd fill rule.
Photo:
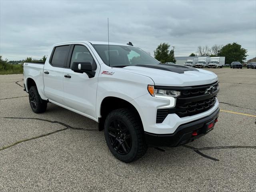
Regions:
<instances>
[{"instance_id":1,"label":"dark forked sealed crack in pavement right of the front wheel","mask_svg":"<svg viewBox=\"0 0 256 192\"><path fill-rule=\"evenodd\" d=\"M214 160L214 161L220 161L216 158L210 157L206 154L203 154L202 152L200 152L199 150L214 150L214 149L256 149L256 146L215 146L215 147L202 147L202 148L195 148L189 145L182 145L183 147L189 148L194 150L194 152L196 152L197 154L201 155L202 157L208 158L210 160Z\"/></svg>"}]
</instances>

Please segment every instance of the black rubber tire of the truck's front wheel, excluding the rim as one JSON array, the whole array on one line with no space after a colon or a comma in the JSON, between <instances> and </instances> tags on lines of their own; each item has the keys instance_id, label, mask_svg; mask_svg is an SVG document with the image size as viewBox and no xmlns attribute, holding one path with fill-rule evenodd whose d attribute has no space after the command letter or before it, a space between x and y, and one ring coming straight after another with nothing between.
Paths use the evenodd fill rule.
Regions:
<instances>
[{"instance_id":1,"label":"black rubber tire of the truck's front wheel, excluding the rim","mask_svg":"<svg viewBox=\"0 0 256 192\"><path fill-rule=\"evenodd\" d=\"M110 125L115 120L121 121L122 125L123 126L125 125L126 129L130 133L131 147L127 154L118 153L116 151L116 148L114 148L111 144L110 130L112 130L112 127L110 128ZM106 144L108 145L110 152L118 160L122 162L126 162L126 163L133 162L138 158L141 158L148 149L148 146L144 138L144 130L143 130L142 123L138 115L128 108L113 110L108 114L104 124L104 134L105 134Z\"/></svg>"}]
</instances>

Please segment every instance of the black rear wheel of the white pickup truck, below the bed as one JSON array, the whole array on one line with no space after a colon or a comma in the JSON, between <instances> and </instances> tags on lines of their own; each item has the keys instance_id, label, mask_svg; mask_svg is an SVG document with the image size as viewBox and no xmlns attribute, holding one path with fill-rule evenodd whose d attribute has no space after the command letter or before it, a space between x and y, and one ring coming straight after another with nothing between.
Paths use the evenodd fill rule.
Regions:
<instances>
[{"instance_id":1,"label":"black rear wheel of the white pickup truck, below the bed","mask_svg":"<svg viewBox=\"0 0 256 192\"><path fill-rule=\"evenodd\" d=\"M28 92L29 104L33 112L43 113L47 108L47 101L42 100L36 86L32 86Z\"/></svg>"}]
</instances>

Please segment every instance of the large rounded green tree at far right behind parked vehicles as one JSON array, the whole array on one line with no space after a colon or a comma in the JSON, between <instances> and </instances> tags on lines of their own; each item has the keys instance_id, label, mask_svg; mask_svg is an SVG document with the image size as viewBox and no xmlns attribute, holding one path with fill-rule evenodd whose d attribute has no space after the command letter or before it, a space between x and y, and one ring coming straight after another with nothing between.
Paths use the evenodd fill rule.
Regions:
<instances>
[{"instance_id":1,"label":"large rounded green tree at far right behind parked vehicles","mask_svg":"<svg viewBox=\"0 0 256 192\"><path fill-rule=\"evenodd\" d=\"M240 44L232 43L226 44L220 49L218 56L225 57L225 63L230 64L233 61L243 62L246 60L247 50L242 48Z\"/></svg>"}]
</instances>

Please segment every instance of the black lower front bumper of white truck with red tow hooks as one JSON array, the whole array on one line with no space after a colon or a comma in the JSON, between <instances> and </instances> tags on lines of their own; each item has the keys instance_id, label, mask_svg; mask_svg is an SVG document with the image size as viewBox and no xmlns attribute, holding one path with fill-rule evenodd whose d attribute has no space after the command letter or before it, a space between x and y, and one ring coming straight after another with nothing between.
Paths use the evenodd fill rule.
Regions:
<instances>
[{"instance_id":1,"label":"black lower front bumper of white truck with red tow hooks","mask_svg":"<svg viewBox=\"0 0 256 192\"><path fill-rule=\"evenodd\" d=\"M152 134L145 132L145 139L148 146L167 146L176 147L188 142L192 142L196 138L204 136L202 128L207 122L216 120L218 118L220 109L218 108L209 116L195 120L189 123L178 126L177 130L173 134ZM192 136L192 133L196 131L197 136Z\"/></svg>"}]
</instances>

